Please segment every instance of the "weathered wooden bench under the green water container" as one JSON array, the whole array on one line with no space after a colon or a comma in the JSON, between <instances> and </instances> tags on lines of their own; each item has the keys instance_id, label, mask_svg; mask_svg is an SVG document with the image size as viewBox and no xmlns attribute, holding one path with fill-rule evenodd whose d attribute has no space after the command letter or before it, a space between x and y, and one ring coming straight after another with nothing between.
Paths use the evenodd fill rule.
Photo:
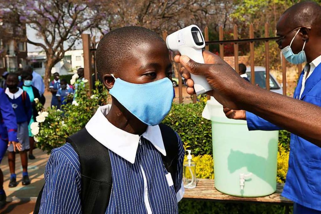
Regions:
<instances>
[{"instance_id":1,"label":"weathered wooden bench under the green water container","mask_svg":"<svg viewBox=\"0 0 321 214\"><path fill-rule=\"evenodd\" d=\"M214 187L214 180L212 179L197 179L196 188L185 189L184 198L195 200L209 200L221 202L252 202L252 203L267 203L267 204L280 204L286 206L285 213L289 213L289 206L293 202L281 196L283 184L277 184L276 191L272 195L257 197L257 198L244 198L227 195L219 192Z\"/></svg>"}]
</instances>

